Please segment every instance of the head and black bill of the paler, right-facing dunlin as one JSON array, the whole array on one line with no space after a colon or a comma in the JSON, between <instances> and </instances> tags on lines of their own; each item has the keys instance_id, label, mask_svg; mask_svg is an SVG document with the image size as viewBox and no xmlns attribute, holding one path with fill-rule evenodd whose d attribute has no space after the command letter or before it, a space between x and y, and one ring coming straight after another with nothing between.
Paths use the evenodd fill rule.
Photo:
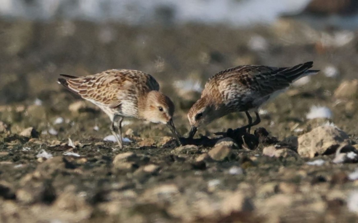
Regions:
<instances>
[{"instance_id":1,"label":"head and black bill of the paler, right-facing dunlin","mask_svg":"<svg viewBox=\"0 0 358 223\"><path fill-rule=\"evenodd\" d=\"M141 116L145 120L153 123L166 124L178 142L180 142L180 135L176 131L173 123L173 115L175 110L173 101L171 101L168 96L159 91L150 91L147 95L145 104L146 106Z\"/></svg>"}]
</instances>

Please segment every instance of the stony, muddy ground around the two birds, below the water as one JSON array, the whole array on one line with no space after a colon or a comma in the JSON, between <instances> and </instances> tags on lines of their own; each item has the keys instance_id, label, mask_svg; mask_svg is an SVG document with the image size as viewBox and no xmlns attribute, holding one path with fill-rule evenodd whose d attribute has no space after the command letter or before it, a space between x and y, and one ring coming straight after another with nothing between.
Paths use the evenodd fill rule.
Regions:
<instances>
[{"instance_id":1,"label":"stony, muddy ground around the two birds, below the water","mask_svg":"<svg viewBox=\"0 0 358 223\"><path fill-rule=\"evenodd\" d=\"M358 220L357 33L290 20L250 29L0 24L0 222ZM151 73L184 135L214 73L305 61L321 72L264 106L251 135L214 134L246 123L232 114L183 146L165 126L127 119L121 150L104 140L106 115L56 83L59 73Z\"/></svg>"}]
</instances>

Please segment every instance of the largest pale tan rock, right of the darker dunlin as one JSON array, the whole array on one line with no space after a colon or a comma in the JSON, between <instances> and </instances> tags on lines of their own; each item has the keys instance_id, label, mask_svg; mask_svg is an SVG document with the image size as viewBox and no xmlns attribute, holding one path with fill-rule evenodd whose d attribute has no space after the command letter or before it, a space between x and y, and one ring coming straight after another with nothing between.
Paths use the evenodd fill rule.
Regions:
<instances>
[{"instance_id":1,"label":"largest pale tan rock, right of the darker dunlin","mask_svg":"<svg viewBox=\"0 0 358 223\"><path fill-rule=\"evenodd\" d=\"M348 139L348 135L337 127L320 126L298 138L297 152L300 156L310 158L316 155L331 154Z\"/></svg>"}]
</instances>

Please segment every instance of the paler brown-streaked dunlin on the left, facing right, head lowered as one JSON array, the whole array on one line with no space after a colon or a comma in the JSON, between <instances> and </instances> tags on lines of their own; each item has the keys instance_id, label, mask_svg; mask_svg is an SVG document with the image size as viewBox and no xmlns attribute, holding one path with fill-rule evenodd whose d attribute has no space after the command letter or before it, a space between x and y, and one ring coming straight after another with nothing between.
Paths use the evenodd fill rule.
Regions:
<instances>
[{"instance_id":1,"label":"paler brown-streaked dunlin on the left, facing right, head lowered","mask_svg":"<svg viewBox=\"0 0 358 223\"><path fill-rule=\"evenodd\" d=\"M58 82L68 90L100 107L111 119L110 129L120 146L124 117L166 124L179 142L173 123L174 104L159 92L153 76L136 70L108 70L95 75L61 75ZM116 129L120 137L117 137Z\"/></svg>"}]
</instances>

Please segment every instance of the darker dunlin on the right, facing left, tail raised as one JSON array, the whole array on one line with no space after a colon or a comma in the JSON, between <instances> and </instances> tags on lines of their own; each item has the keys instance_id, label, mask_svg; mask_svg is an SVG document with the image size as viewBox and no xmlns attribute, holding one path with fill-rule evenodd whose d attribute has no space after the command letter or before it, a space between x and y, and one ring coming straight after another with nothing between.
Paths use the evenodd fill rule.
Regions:
<instances>
[{"instance_id":1,"label":"darker dunlin on the right, facing left, tail raised","mask_svg":"<svg viewBox=\"0 0 358 223\"><path fill-rule=\"evenodd\" d=\"M232 112L245 112L248 125L242 128L250 132L252 126L261 122L258 107L295 80L317 73L318 70L308 70L312 65L313 62L293 67L245 65L217 73L208 80L201 98L189 110L189 138L193 138L198 127ZM254 122L250 110L256 114Z\"/></svg>"}]
</instances>

